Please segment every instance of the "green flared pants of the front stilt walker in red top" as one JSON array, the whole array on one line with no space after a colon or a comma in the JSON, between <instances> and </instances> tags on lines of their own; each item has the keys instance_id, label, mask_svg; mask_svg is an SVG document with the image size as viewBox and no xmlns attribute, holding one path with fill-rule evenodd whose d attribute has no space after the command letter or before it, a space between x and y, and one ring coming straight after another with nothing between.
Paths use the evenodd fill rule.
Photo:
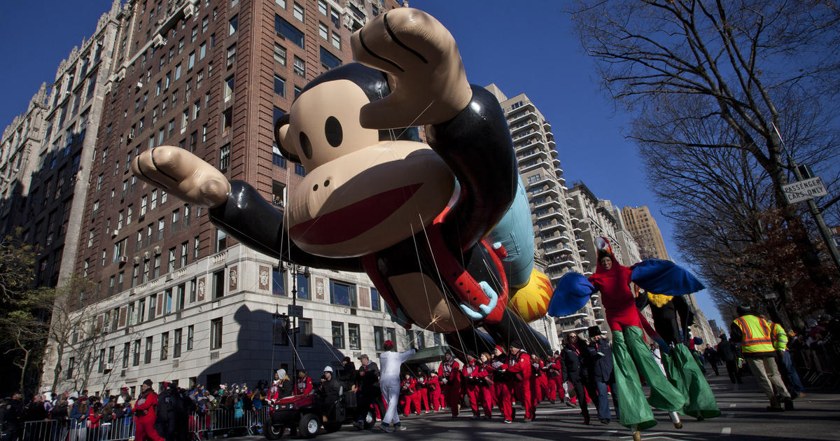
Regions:
<instances>
[{"instance_id":1,"label":"green flared pants of the front stilt walker in red top","mask_svg":"<svg viewBox=\"0 0 840 441\"><path fill-rule=\"evenodd\" d=\"M631 430L654 427L656 420L651 406L668 412L682 410L685 396L669 383L659 369L648 345L644 343L641 328L627 326L621 332L612 332L612 362L622 426ZM650 385L647 402L638 378L639 372Z\"/></svg>"}]
</instances>

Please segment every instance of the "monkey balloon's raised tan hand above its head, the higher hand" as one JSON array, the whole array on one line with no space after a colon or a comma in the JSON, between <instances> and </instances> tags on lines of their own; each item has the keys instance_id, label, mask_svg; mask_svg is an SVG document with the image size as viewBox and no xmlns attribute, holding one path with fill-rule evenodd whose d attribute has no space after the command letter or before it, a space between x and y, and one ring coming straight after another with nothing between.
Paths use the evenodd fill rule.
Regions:
<instances>
[{"instance_id":1,"label":"monkey balloon's raised tan hand above its head, the higher hand","mask_svg":"<svg viewBox=\"0 0 840 441\"><path fill-rule=\"evenodd\" d=\"M458 45L428 13L396 8L371 20L350 39L355 60L391 75L391 94L366 104L369 129L444 123L472 99Z\"/></svg>"}]
</instances>

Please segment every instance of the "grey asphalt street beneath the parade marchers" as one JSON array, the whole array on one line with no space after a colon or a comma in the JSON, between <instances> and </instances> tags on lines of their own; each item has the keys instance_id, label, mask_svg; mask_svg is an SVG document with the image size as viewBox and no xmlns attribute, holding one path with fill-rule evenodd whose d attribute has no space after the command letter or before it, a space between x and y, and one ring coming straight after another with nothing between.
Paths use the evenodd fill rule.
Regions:
<instances>
[{"instance_id":1,"label":"grey asphalt street beneath the parade marchers","mask_svg":"<svg viewBox=\"0 0 840 441\"><path fill-rule=\"evenodd\" d=\"M765 412L767 400L759 391L753 377L744 377L744 384L734 387L729 382L725 372L721 376L706 377L717 396L717 405L721 409L721 416L698 422L690 417L684 417L684 426L678 430L673 427L664 412L655 412L659 421L654 428L643 431L643 439L652 440L837 440L840 439L840 393L837 391L823 392L806 390L807 396L795 401L796 410L793 412L769 413ZM546 402L547 403L547 402ZM496 412L496 409L494 409ZM512 424L504 424L500 417L494 416L490 421L471 420L470 412L452 419L447 414L428 414L403 419L407 430L399 433L385 433L377 426L371 430L356 431L351 426L345 426L337 433L323 433L318 439L346 441L359 439L365 441L405 439L428 441L438 439L453 440L494 440L504 439L562 439L575 441L585 439L600 440L629 440L631 433L613 421L602 425L596 423L590 426L582 424L580 409L563 405L545 404L538 407L537 419L532 423L522 423L521 420ZM287 439L288 433L283 439ZM239 440L265 439L261 436L228 438Z\"/></svg>"}]
</instances>

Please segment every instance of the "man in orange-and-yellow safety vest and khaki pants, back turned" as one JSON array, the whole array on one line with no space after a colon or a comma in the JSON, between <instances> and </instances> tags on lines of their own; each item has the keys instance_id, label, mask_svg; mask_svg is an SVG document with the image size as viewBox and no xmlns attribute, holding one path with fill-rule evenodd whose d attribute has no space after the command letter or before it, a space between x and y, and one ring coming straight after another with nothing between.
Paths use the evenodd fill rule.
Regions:
<instances>
[{"instance_id":1,"label":"man in orange-and-yellow safety vest and khaki pants, back turned","mask_svg":"<svg viewBox=\"0 0 840 441\"><path fill-rule=\"evenodd\" d=\"M738 318L732 322L729 333L732 335L732 341L740 344L749 370L753 372L753 376L759 381L759 386L770 401L767 410L769 412L793 410L793 400L790 399L790 393L776 365L769 323L764 318L754 316L752 309L746 305L738 306L737 312ZM781 406L777 394L784 400L785 407Z\"/></svg>"}]
</instances>

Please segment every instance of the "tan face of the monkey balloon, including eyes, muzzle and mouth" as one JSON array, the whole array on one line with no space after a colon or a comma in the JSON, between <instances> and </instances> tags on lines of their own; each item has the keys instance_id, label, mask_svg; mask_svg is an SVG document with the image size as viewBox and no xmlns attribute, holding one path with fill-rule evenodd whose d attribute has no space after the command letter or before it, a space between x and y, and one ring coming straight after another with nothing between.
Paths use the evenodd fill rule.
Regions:
<instances>
[{"instance_id":1,"label":"tan face of the monkey balloon, including eyes, muzzle and mouth","mask_svg":"<svg viewBox=\"0 0 840 441\"><path fill-rule=\"evenodd\" d=\"M359 122L370 102L352 81L304 92L279 128L307 170L287 207L291 239L325 257L369 255L411 237L446 207L449 167L427 144L380 141Z\"/></svg>"}]
</instances>

